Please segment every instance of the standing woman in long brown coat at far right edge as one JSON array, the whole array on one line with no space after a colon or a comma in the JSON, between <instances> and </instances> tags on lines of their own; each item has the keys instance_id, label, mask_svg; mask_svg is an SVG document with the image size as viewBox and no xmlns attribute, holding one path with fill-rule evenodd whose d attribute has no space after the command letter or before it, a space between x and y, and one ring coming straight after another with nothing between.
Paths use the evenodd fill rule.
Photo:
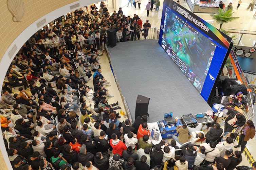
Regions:
<instances>
[{"instance_id":1,"label":"standing woman in long brown coat at far right edge","mask_svg":"<svg viewBox=\"0 0 256 170\"><path fill-rule=\"evenodd\" d=\"M234 146L234 148L238 148L241 146L241 152L243 152L247 141L249 141L250 139L253 139L254 136L255 136L255 126L253 124L253 121L248 120L246 121L245 127L241 132L238 145Z\"/></svg>"}]
</instances>

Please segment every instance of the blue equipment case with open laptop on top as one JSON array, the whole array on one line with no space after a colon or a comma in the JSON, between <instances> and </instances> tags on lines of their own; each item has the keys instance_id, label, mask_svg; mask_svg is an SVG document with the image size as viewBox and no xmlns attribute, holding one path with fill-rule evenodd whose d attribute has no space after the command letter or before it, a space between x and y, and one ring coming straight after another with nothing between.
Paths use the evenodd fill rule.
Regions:
<instances>
[{"instance_id":1,"label":"blue equipment case with open laptop on top","mask_svg":"<svg viewBox=\"0 0 256 170\"><path fill-rule=\"evenodd\" d=\"M182 123L180 121L180 119L178 119L176 124L172 124L172 125L166 125L165 120L162 120L160 122L158 122L158 127L160 129L160 133L163 139L169 139L171 138L173 135L178 136L178 133L176 131L176 127L178 125L182 126Z\"/></svg>"}]
</instances>

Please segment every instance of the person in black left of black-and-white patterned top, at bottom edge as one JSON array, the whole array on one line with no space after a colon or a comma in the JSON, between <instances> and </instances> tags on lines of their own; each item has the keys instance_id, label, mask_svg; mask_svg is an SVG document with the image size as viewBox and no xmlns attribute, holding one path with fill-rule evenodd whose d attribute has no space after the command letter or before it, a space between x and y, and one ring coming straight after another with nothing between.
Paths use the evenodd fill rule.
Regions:
<instances>
[{"instance_id":1,"label":"person in black left of black-and-white patterned top, at bottom edge","mask_svg":"<svg viewBox=\"0 0 256 170\"><path fill-rule=\"evenodd\" d=\"M101 152L96 152L94 164L99 170L107 170L109 168L109 154L102 155Z\"/></svg>"}]
</instances>

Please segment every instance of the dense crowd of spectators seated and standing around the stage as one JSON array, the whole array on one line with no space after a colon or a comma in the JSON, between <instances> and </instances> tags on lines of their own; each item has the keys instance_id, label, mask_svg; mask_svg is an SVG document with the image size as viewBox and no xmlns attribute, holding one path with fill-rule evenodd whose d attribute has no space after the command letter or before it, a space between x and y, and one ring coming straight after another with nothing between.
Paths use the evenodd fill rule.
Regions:
<instances>
[{"instance_id":1,"label":"dense crowd of spectators seated and standing around the stage","mask_svg":"<svg viewBox=\"0 0 256 170\"><path fill-rule=\"evenodd\" d=\"M104 2L97 9L95 4L80 8L68 13L63 23L60 17L44 26L10 65L2 87L1 128L13 169L235 169L246 142L255 135L253 122L235 110L227 112L224 135L218 123L206 134L202 124L191 128L183 123L177 127L178 136L156 145L147 116L120 122L118 101L107 101L113 95L107 90L111 85L101 71L99 54L105 50L108 29L115 28L121 42L140 39L139 30L144 27L146 32L150 24L142 26L136 14L126 17L122 8L110 16ZM18 93L13 93L15 87ZM241 151L233 152L237 134L232 130L243 125L234 146L241 146ZM196 144L204 138L206 143ZM188 141L176 157L175 150Z\"/></svg>"}]
</instances>

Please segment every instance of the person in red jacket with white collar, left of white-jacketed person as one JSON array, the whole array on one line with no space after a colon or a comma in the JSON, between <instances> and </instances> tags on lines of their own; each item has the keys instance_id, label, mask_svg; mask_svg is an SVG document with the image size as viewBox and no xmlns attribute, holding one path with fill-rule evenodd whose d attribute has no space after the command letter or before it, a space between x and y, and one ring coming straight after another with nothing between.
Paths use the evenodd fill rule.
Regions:
<instances>
[{"instance_id":1,"label":"person in red jacket with white collar, left of white-jacketed person","mask_svg":"<svg viewBox=\"0 0 256 170\"><path fill-rule=\"evenodd\" d=\"M112 139L110 139L109 144L113 148L113 154L118 153L120 156L122 156L123 151L127 149L125 144L117 138L115 133L111 135L111 138Z\"/></svg>"}]
</instances>

